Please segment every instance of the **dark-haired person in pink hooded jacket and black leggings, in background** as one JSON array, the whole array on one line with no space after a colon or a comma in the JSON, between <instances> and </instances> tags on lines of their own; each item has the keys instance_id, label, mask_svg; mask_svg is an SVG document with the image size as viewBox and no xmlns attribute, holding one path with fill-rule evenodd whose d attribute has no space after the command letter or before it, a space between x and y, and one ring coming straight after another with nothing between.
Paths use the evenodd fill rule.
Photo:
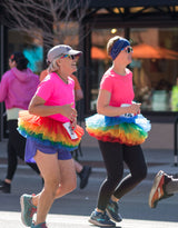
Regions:
<instances>
[{"instance_id":1,"label":"dark-haired person in pink hooded jacket and black leggings, in background","mask_svg":"<svg viewBox=\"0 0 178 228\"><path fill-rule=\"evenodd\" d=\"M0 181L0 191L10 194L11 181L14 176L18 157L24 160L26 138L18 128L20 110L27 110L29 102L39 85L39 77L28 67L28 59L21 52L14 52L9 58L10 70L4 72L0 82L0 102L4 101L9 139L8 139L8 170L3 181ZM28 163L37 174L40 174L36 163Z\"/></svg>"}]
</instances>

